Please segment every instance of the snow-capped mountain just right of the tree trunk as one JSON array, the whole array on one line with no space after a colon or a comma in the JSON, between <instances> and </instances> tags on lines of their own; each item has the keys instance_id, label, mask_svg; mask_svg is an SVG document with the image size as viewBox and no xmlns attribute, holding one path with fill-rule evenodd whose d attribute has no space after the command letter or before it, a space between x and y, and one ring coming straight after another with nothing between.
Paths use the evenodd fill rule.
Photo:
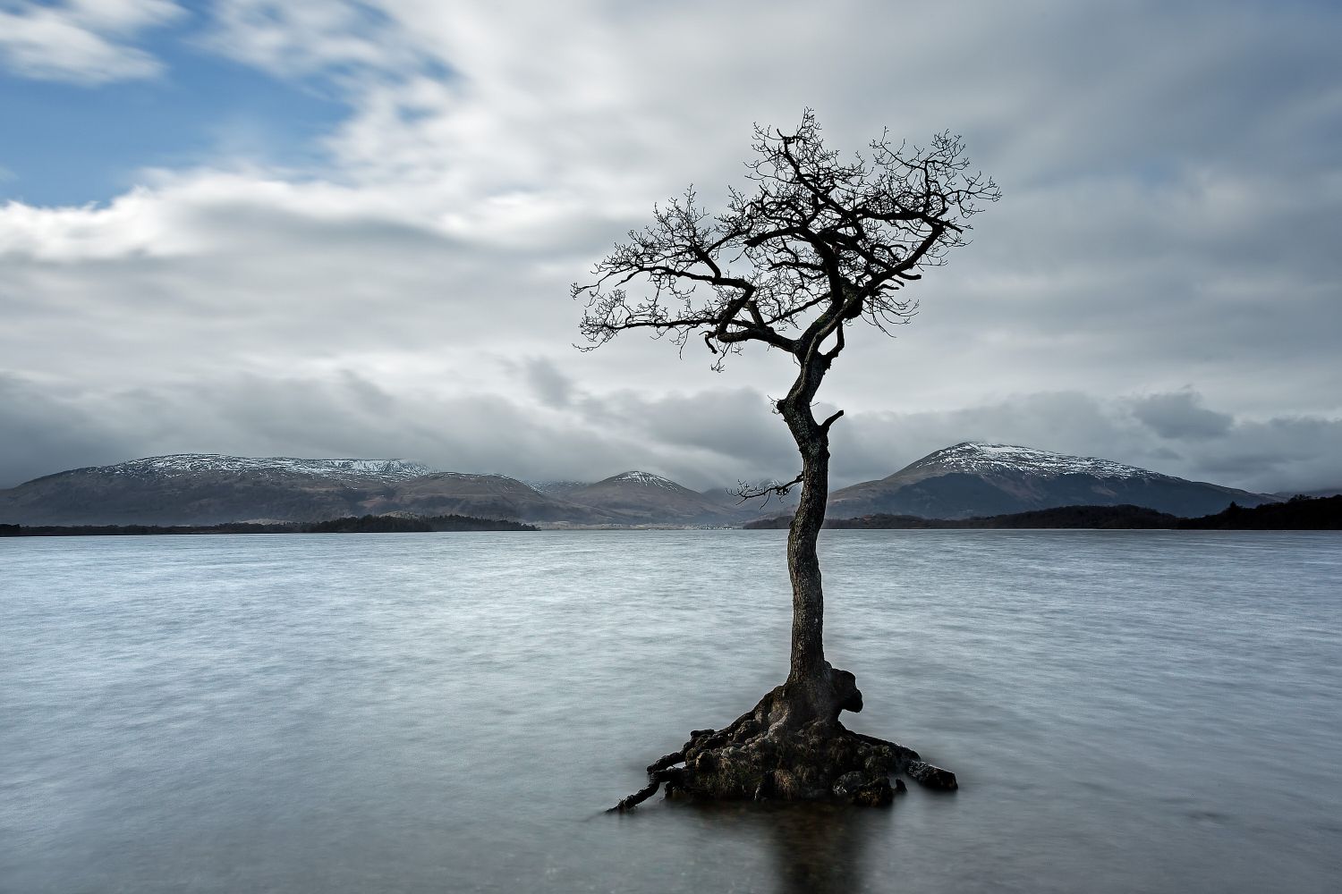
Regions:
<instances>
[{"instance_id":1,"label":"snow-capped mountain just right of the tree trunk","mask_svg":"<svg viewBox=\"0 0 1342 894\"><path fill-rule=\"evenodd\" d=\"M1064 505L1133 504L1186 517L1220 512L1232 501L1253 507L1278 497L1110 460L966 441L929 453L888 477L835 491L828 515L968 519Z\"/></svg>"}]
</instances>

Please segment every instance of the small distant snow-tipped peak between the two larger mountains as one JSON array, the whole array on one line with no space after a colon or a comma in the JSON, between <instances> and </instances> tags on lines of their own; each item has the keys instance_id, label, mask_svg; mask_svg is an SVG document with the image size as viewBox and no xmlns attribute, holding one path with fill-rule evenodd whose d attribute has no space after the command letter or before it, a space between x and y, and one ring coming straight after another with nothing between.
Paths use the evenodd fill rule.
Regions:
<instances>
[{"instance_id":1,"label":"small distant snow-tipped peak between the two larger mountains","mask_svg":"<svg viewBox=\"0 0 1342 894\"><path fill-rule=\"evenodd\" d=\"M572 488L564 499L625 519L627 524L739 524L758 515L651 472L621 472Z\"/></svg>"}]
</instances>

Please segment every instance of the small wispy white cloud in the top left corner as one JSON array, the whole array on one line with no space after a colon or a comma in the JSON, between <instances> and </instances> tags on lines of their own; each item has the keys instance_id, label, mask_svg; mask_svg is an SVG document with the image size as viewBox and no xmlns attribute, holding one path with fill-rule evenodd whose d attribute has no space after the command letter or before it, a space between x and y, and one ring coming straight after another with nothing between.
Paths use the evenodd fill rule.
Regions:
<instances>
[{"instance_id":1,"label":"small wispy white cloud in the top left corner","mask_svg":"<svg viewBox=\"0 0 1342 894\"><path fill-rule=\"evenodd\" d=\"M172 0L20 0L7 7L0 8L0 64L24 78L79 84L157 76L162 63L127 42L183 15Z\"/></svg>"}]
</instances>

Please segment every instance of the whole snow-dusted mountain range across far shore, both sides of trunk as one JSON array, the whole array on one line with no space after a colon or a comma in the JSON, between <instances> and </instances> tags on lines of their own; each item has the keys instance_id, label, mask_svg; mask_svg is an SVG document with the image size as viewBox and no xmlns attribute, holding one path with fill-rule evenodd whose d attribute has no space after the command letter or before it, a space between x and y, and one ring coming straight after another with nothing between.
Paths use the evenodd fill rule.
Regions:
<instances>
[{"instance_id":1,"label":"whole snow-dusted mountain range across far shore, both sides of trunk","mask_svg":"<svg viewBox=\"0 0 1342 894\"><path fill-rule=\"evenodd\" d=\"M1184 517L1236 501L1280 501L1205 481L1019 445L962 441L898 472L839 488L829 517L927 519L1062 505L1134 504ZM0 491L0 523L220 524L321 521L362 515L470 515L548 525L737 525L774 504L723 488L692 491L631 469L600 481L525 483L499 473L440 472L412 460L307 460L176 453L82 466ZM774 512L778 511L773 508Z\"/></svg>"}]
</instances>

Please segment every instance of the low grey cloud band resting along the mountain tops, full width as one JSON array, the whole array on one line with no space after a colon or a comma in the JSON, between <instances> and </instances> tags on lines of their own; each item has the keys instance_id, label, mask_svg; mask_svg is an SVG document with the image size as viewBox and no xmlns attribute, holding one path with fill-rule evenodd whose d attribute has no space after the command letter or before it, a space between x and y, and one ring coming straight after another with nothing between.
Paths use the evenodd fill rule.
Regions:
<instances>
[{"instance_id":1,"label":"low grey cloud band resting along the mountain tops, full width","mask_svg":"<svg viewBox=\"0 0 1342 894\"><path fill-rule=\"evenodd\" d=\"M627 469L705 489L797 473L796 448L752 389L652 397L588 393L570 382L557 406L534 390L529 361L505 379L522 389L444 395L396 387L352 369L331 375L224 374L134 389L68 389L0 374L9 434L0 487L66 468L164 453L405 457L456 472L527 480L599 480ZM546 379L549 381L549 379ZM937 413L852 413L835 425L832 487L880 478L966 440L1098 456L1251 491L1342 484L1342 418L1236 420L1217 438L1172 441L1131 413L1134 401L1056 391ZM1177 393L1201 406L1201 395ZM1215 410L1206 410L1215 413ZM1219 414L1220 416L1220 414Z\"/></svg>"}]
</instances>

